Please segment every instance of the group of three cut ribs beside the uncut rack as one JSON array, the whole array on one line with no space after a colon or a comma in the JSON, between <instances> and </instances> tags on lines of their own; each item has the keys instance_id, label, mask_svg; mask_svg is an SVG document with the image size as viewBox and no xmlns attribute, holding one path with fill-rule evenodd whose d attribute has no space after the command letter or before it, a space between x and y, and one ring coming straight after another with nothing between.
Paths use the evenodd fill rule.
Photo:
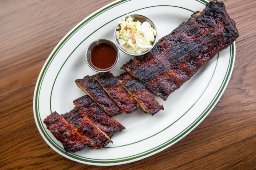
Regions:
<instances>
[{"instance_id":1,"label":"group of three cut ribs beside the uncut rack","mask_svg":"<svg viewBox=\"0 0 256 170\"><path fill-rule=\"evenodd\" d=\"M149 89L129 73L115 77L108 71L85 76L75 82L110 116L121 114L123 111L132 113L139 105L150 115L164 109Z\"/></svg>"}]
</instances>

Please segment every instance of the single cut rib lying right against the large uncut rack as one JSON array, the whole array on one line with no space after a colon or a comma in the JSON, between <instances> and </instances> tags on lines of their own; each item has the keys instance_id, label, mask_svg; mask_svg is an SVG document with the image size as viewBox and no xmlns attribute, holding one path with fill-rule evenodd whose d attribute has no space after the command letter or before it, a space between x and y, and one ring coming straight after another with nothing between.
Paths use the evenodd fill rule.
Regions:
<instances>
[{"instance_id":1,"label":"single cut rib lying right against the large uncut rack","mask_svg":"<svg viewBox=\"0 0 256 170\"><path fill-rule=\"evenodd\" d=\"M140 80L134 78L129 73L122 73L117 77L118 81L123 87L137 100L140 107L150 115L156 114L160 110L164 110L163 105L160 105L153 94L151 94L148 88L141 83Z\"/></svg>"}]
</instances>

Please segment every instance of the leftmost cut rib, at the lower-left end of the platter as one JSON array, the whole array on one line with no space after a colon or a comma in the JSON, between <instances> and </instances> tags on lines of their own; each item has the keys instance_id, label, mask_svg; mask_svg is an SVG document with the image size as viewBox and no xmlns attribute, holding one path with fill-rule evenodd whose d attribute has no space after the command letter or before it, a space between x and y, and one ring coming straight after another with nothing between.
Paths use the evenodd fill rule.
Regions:
<instances>
[{"instance_id":1,"label":"leftmost cut rib, at the lower-left end of the platter","mask_svg":"<svg viewBox=\"0 0 256 170\"><path fill-rule=\"evenodd\" d=\"M89 145L57 112L47 116L44 119L44 124L52 132L52 135L63 144L66 152L78 152Z\"/></svg>"}]
</instances>

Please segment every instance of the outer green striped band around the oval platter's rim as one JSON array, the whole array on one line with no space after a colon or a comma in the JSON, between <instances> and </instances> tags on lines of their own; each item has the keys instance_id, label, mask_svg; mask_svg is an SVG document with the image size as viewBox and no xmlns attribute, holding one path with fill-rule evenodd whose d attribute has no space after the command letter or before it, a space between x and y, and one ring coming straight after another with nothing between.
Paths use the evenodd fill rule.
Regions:
<instances>
[{"instance_id":1,"label":"outer green striped band around the oval platter's rim","mask_svg":"<svg viewBox=\"0 0 256 170\"><path fill-rule=\"evenodd\" d=\"M128 0L130 1L130 0ZM46 63L46 65L44 66L44 69L42 71L42 74L40 76L40 79L38 81L38 85L37 85L37 88L36 88L36 97L35 97L35 111L36 111L36 120L37 120L37 123L42 131L42 133L44 134L44 137L45 136L45 132L44 132L44 128L42 127L42 124L40 124L39 122L39 118L38 118L38 113L37 111L38 110L38 101L39 100L39 93L40 90L39 90L39 86L40 86L40 89L41 89L41 85L42 85L42 81L43 81L43 77L49 67L49 65L51 64L53 58L56 56L56 54L58 53L58 51L60 50L60 48L68 41L68 39L74 34L76 33L82 26L86 25L86 23L88 23L90 20L92 20L93 18L95 18L96 16L100 15L101 13L109 10L110 8L113 8L114 6L117 6L119 4L123 4L125 2L128 2L127 0L122 0L122 1L119 1L119 2L116 2L114 4L111 4L107 7L105 7L104 9L98 11L97 13L93 14L91 17L89 17L88 19L86 19L83 23L81 23L79 26L77 26L71 33L68 34L68 36L62 40L62 42L60 43L60 45L55 49L55 51L52 53L51 57L49 58L48 62ZM198 1L198 0L196 0ZM202 2L205 2L203 0L200 0ZM199 2L199 1L198 1ZM207 3L207 2L206 2ZM166 5L165 5L166 6ZM181 7L182 8L182 7ZM187 9L188 10L188 9ZM137 11L137 10L136 10ZM191 11L191 10L189 10ZM133 12L133 11L132 11ZM110 21L111 22L111 21ZM80 45L80 44L79 44ZM124 157L124 158L119 158L120 160L117 160L117 159L90 159L90 158L84 158L84 157L80 157L80 156L77 156L75 154L70 154L70 153L66 153L63 148L61 148L60 146L59 147L56 147L52 141L48 138L47 140L56 148L58 149L60 152L64 153L65 155L71 157L71 158L74 158L74 159L77 159L77 160L81 160L81 161L85 161L85 162L93 162L93 163L117 163L117 162L124 162L124 161L129 161L129 160L132 160L132 159L137 159L137 158L140 158L142 156L146 156L150 153L153 153L153 152L156 152L162 148L164 148L165 146L168 146L170 144L172 144L173 142L177 141L178 139L181 139L181 137L183 137L190 129L192 128L195 128L195 126L197 125L197 123L202 120L204 118L204 116L206 116L208 114L208 112L212 109L212 107L216 104L216 101L219 99L220 97L220 94L223 92L223 89L224 87L226 86L227 84L227 81L230 77L230 73L231 73L231 70L232 70L232 67L233 67L233 61L234 61L234 46L235 46L235 43L233 43L231 46L230 46L230 58L229 58L229 64L228 64L228 70L226 72L226 75L225 75L225 78L220 86L220 89L219 91L217 92L217 94L215 95L214 97L214 101L211 102L208 107L204 110L204 112L193 122L191 123L186 129L184 129L182 132L180 132L180 134L178 134L177 136L173 137L172 139L168 140L167 142L159 145L159 146L156 146L155 148L152 148L148 151L145 151L145 152L142 152L142 153L139 153L139 154L136 154L136 155L132 155L132 156L129 156L129 157ZM231 50L232 48L232 50ZM231 51L232 51L232 55L231 55ZM232 56L232 57L231 57ZM231 63L231 64L230 64ZM208 85L207 85L208 86ZM211 106L210 106L211 105ZM210 106L210 107L209 107ZM40 116L40 115L39 115ZM48 135L48 134L47 134ZM121 160L122 159L122 160ZM95 160L98 160L98 161L95 161ZM99 161L99 160L104 160L104 161ZM111 160L111 161L108 161L108 160Z\"/></svg>"}]
</instances>

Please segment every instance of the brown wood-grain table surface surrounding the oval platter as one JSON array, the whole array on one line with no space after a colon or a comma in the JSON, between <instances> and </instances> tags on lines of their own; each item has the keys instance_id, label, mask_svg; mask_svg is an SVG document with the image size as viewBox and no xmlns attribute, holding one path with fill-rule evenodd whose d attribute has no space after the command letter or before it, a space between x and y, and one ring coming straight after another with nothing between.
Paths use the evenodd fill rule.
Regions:
<instances>
[{"instance_id":1,"label":"brown wood-grain table surface surrounding the oval platter","mask_svg":"<svg viewBox=\"0 0 256 170\"><path fill-rule=\"evenodd\" d=\"M224 0L240 34L232 77L212 112L180 142L106 167L66 159L44 142L32 106L39 72L71 28L112 1L0 1L0 169L255 169L255 0Z\"/></svg>"}]
</instances>

